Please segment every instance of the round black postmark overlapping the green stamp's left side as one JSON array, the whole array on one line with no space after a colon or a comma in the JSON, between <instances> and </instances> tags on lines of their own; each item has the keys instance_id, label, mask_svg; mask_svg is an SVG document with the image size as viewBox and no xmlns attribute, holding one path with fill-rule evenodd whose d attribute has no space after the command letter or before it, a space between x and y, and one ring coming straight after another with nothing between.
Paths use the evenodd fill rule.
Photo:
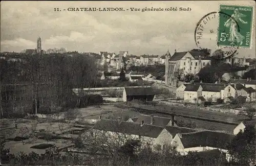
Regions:
<instances>
[{"instance_id":1,"label":"round black postmark overlapping the green stamp's left side","mask_svg":"<svg viewBox=\"0 0 256 166\"><path fill-rule=\"evenodd\" d=\"M216 51L222 51L223 59L229 59L237 54L238 46L223 46L219 48L218 40L216 39L218 34L225 34L225 38L228 38L228 30L218 27L218 20L220 17L226 19L233 19L231 15L223 12L210 12L204 15L197 23L195 28L195 42L198 48L213 48ZM237 24L238 25L238 24ZM215 28L214 28L215 27ZM240 28L238 27L238 31Z\"/></svg>"}]
</instances>

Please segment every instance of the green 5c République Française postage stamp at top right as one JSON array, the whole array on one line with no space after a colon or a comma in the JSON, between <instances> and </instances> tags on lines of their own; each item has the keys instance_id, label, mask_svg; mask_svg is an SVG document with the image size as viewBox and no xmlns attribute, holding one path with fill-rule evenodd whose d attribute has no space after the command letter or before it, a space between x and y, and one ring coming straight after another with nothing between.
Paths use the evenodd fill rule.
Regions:
<instances>
[{"instance_id":1,"label":"green 5c R\u00e9publique Fran\u00e7aise postage stamp at top right","mask_svg":"<svg viewBox=\"0 0 256 166\"><path fill-rule=\"evenodd\" d=\"M218 46L250 48L253 33L253 7L220 5Z\"/></svg>"}]
</instances>

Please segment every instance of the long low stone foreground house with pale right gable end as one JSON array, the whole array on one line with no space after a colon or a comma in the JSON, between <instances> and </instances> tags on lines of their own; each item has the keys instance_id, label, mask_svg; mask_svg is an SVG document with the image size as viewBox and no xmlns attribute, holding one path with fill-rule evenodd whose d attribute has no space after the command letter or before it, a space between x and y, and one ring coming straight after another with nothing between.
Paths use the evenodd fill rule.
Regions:
<instances>
[{"instance_id":1,"label":"long low stone foreground house with pale right gable end","mask_svg":"<svg viewBox=\"0 0 256 166\"><path fill-rule=\"evenodd\" d=\"M151 145L153 149L158 146L162 149L164 145L170 144L172 141L172 135L166 129L160 126L144 124L143 121L141 123L130 123L101 119L87 133L103 134L110 141L123 139L123 144L129 138L139 139L142 146L145 144Z\"/></svg>"}]
</instances>

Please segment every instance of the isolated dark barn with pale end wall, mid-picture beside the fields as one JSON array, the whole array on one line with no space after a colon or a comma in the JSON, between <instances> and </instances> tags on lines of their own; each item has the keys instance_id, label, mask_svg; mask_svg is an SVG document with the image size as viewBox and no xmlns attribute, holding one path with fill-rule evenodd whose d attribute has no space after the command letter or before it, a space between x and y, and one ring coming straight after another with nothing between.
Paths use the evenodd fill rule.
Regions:
<instances>
[{"instance_id":1,"label":"isolated dark barn with pale end wall, mid-picture beside the fields","mask_svg":"<svg viewBox=\"0 0 256 166\"><path fill-rule=\"evenodd\" d=\"M132 100L153 101L156 93L152 87L124 87L123 102Z\"/></svg>"}]
</instances>

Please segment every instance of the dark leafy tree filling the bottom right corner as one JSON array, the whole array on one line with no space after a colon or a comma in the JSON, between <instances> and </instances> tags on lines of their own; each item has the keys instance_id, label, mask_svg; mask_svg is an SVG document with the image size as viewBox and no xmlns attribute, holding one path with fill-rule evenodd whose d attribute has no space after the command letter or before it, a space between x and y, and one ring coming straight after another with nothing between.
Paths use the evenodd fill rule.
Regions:
<instances>
[{"instance_id":1,"label":"dark leafy tree filling the bottom right corner","mask_svg":"<svg viewBox=\"0 0 256 166\"><path fill-rule=\"evenodd\" d=\"M228 145L233 165L249 165L255 163L255 127L246 126Z\"/></svg>"}]
</instances>

